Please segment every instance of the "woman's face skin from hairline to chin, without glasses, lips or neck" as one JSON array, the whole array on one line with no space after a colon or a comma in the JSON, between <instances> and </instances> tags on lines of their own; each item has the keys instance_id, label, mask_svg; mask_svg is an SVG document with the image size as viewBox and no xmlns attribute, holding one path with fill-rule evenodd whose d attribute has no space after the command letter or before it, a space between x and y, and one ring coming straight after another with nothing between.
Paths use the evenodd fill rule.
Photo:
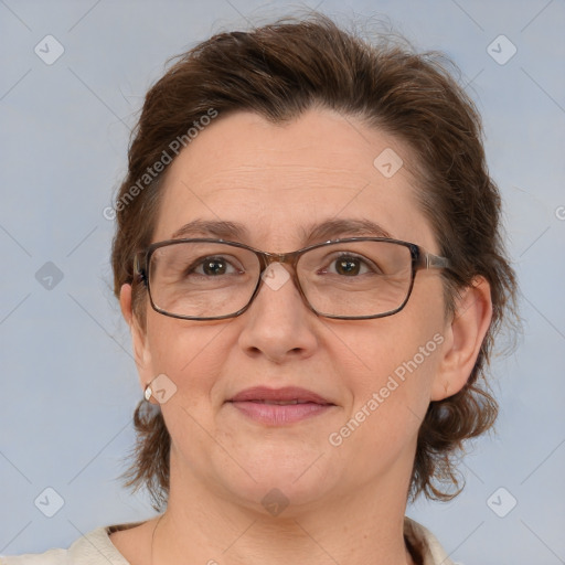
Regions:
<instances>
[{"instance_id":1,"label":"woman's face skin from hairline to chin, without glasses, lips or neck","mask_svg":"<svg viewBox=\"0 0 565 565\"><path fill-rule=\"evenodd\" d=\"M404 161L393 175L391 149ZM231 222L244 227L237 241L284 253L303 247L320 224L354 220L438 254L409 160L397 139L329 110L286 125L220 116L170 166L153 242L195 220ZM334 231L319 241L361 235L382 234ZM175 480L199 484L259 509L273 489L289 508L365 487L383 498L406 491L446 330L437 270L418 271L405 308L381 319L318 317L291 279L263 284L248 310L226 320L180 320L147 306L146 329L134 333L141 384L164 374L177 387L161 406L172 489ZM230 402L257 386L305 388L332 406L289 424L260 422Z\"/></svg>"}]
</instances>

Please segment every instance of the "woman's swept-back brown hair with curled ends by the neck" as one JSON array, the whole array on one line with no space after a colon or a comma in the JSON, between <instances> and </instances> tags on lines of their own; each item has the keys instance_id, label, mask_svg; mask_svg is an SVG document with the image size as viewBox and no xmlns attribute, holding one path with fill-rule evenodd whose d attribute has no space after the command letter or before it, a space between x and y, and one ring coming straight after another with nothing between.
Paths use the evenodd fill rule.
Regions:
<instances>
[{"instance_id":1,"label":"woman's swept-back brown hair with curled ends by the neck","mask_svg":"<svg viewBox=\"0 0 565 565\"><path fill-rule=\"evenodd\" d=\"M134 280L134 255L151 243L163 173L151 175L173 140L189 141L189 129L211 109L221 117L252 110L280 124L321 106L396 136L416 156L419 204L452 264L443 274L447 313L476 276L491 286L492 322L469 380L459 393L430 403L419 430L412 498L455 497L461 489L454 458L498 413L484 380L493 337L503 319L515 320L516 282L500 236L500 195L487 171L473 103L440 54L417 54L390 39L366 42L317 13L220 33L177 58L149 89L132 132L129 170L116 201L116 296L122 284L134 284L134 311L143 324L147 296ZM169 493L171 439L160 409L148 403L138 406L135 426L127 484L145 484L160 510Z\"/></svg>"}]
</instances>

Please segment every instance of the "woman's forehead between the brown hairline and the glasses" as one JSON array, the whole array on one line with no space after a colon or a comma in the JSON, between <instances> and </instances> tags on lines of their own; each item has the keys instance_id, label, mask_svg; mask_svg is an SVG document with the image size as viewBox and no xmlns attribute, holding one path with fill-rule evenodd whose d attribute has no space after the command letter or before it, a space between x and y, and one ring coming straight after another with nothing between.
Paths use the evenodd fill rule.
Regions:
<instances>
[{"instance_id":1,"label":"woman's forehead between the brown hairline and the glasses","mask_svg":"<svg viewBox=\"0 0 565 565\"><path fill-rule=\"evenodd\" d=\"M222 222L244 228L225 238L286 252L317 224L353 220L433 249L409 160L398 139L331 110L284 125L253 113L220 116L169 167L153 241L198 237L179 231Z\"/></svg>"}]
</instances>

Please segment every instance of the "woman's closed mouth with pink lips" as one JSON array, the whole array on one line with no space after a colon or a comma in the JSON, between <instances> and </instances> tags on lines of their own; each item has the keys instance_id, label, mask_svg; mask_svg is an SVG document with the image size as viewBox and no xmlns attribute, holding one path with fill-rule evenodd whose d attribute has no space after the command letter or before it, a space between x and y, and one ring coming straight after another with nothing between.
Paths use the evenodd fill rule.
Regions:
<instances>
[{"instance_id":1,"label":"woman's closed mouth with pink lips","mask_svg":"<svg viewBox=\"0 0 565 565\"><path fill-rule=\"evenodd\" d=\"M299 387L268 388L256 386L236 394L227 401L252 420L280 426L327 413L335 404Z\"/></svg>"}]
</instances>

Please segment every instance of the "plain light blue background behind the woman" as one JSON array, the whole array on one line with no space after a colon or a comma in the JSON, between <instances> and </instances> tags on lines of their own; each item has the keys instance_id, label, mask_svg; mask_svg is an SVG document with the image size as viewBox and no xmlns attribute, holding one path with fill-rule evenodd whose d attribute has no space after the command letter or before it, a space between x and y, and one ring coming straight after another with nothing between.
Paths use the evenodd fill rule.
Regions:
<instances>
[{"instance_id":1,"label":"plain light blue background behind the woman","mask_svg":"<svg viewBox=\"0 0 565 565\"><path fill-rule=\"evenodd\" d=\"M260 23L298 6L0 1L0 553L67 546L96 526L152 514L116 480L140 390L111 296L113 224L103 210L164 61L246 18ZM372 17L388 17L418 49L460 66L484 118L522 286L524 337L494 364L498 434L461 467L463 494L408 514L466 565L565 563L565 6L326 0L319 10L369 29ZM34 53L47 34L65 49L51 66ZM504 65L487 52L500 34L518 47ZM64 275L52 290L34 276L46 262ZM34 505L46 487L65 501L51 519ZM505 518L487 504L500 487L518 500Z\"/></svg>"}]
</instances>

